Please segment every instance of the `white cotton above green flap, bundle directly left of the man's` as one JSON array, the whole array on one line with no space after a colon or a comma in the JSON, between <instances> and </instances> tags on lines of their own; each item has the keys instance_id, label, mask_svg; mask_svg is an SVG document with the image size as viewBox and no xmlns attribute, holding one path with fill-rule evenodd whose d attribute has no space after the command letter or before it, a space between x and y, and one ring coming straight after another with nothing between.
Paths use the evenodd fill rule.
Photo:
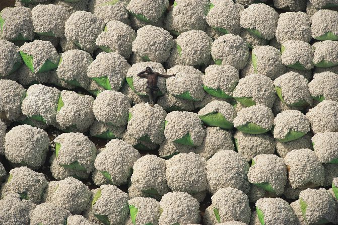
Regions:
<instances>
[{"instance_id":1,"label":"white cotton above green flap, bundle directly left of the man's","mask_svg":"<svg viewBox=\"0 0 338 225\"><path fill-rule=\"evenodd\" d=\"M101 52L90 64L87 71L89 78L107 77L111 90L118 91L124 82L130 65L116 52Z\"/></svg>"}]
</instances>

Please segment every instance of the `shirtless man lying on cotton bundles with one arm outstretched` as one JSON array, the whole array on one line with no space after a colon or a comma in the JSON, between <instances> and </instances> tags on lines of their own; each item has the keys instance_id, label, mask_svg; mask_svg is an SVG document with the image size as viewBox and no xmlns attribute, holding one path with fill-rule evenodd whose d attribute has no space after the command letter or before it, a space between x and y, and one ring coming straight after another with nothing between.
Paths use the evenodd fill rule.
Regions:
<instances>
[{"instance_id":1,"label":"shirtless man lying on cotton bundles with one arm outstretched","mask_svg":"<svg viewBox=\"0 0 338 225\"><path fill-rule=\"evenodd\" d=\"M159 88L157 87L157 80L158 77L162 78L170 78L170 77L175 77L176 74L173 75L164 75L158 72L153 72L152 68L149 66L146 67L145 71L139 72L138 76L140 78L146 78L147 79L147 95L149 97L149 102L151 105L156 104L157 102L157 92Z\"/></svg>"}]
</instances>

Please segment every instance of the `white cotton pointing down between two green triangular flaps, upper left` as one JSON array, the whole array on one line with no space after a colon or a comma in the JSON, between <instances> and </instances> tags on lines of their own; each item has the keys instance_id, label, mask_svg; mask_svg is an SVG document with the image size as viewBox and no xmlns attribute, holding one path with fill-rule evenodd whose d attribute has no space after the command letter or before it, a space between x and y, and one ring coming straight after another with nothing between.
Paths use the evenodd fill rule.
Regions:
<instances>
[{"instance_id":1,"label":"white cotton pointing down between two green triangular flaps, upper left","mask_svg":"<svg viewBox=\"0 0 338 225\"><path fill-rule=\"evenodd\" d=\"M35 40L27 42L20 47L20 51L33 56L34 73L37 73L47 60L58 64L60 59L55 47L49 41Z\"/></svg>"}]
</instances>

